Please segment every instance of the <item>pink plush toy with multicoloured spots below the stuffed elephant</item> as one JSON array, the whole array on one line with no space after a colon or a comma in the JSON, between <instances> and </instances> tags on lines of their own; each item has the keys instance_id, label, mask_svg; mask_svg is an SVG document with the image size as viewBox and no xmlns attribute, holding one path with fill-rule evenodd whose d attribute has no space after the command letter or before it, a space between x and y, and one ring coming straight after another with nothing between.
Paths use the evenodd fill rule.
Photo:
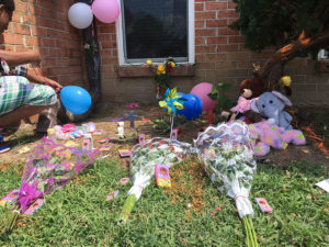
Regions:
<instances>
[{"instance_id":1,"label":"pink plush toy with multicoloured spots below the stuffed elephant","mask_svg":"<svg viewBox=\"0 0 329 247\"><path fill-rule=\"evenodd\" d=\"M305 136L298 130L285 131L268 121L249 125L249 136L256 156L264 156L270 151L270 147L285 149L290 143L294 145L306 144Z\"/></svg>"}]
</instances>

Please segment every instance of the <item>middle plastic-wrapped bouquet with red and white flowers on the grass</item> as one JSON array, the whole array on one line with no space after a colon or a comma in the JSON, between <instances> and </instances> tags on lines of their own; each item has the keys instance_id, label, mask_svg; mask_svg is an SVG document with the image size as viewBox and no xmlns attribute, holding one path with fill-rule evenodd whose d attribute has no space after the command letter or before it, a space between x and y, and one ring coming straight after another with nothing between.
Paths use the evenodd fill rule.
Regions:
<instances>
[{"instance_id":1,"label":"middle plastic-wrapped bouquet with red and white flowers on the grass","mask_svg":"<svg viewBox=\"0 0 329 247\"><path fill-rule=\"evenodd\" d=\"M151 178L155 177L155 165L163 164L170 168L189 155L190 147L190 144L160 137L148 139L133 147L131 160L133 187L128 191L128 198L120 214L120 224L126 223L143 190L150 183Z\"/></svg>"}]
</instances>

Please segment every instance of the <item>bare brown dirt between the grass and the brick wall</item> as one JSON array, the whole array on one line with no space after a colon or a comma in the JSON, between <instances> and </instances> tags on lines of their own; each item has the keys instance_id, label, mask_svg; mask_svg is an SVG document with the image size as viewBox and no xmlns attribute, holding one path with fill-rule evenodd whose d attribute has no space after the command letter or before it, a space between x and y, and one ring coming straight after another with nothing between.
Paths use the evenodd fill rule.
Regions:
<instances>
[{"instance_id":1,"label":"bare brown dirt between the grass and the brick wall","mask_svg":"<svg viewBox=\"0 0 329 247\"><path fill-rule=\"evenodd\" d=\"M317 111L325 112L325 116L329 116L328 109L317 109ZM124 104L110 104L104 103L95 109L95 113L92 114L88 120L83 123L94 122L97 124L98 130L103 130L101 135L93 135L94 147L100 147L101 144L98 143L98 139L103 137L114 137L114 142L109 143L106 145L112 145L112 149L110 151L102 151L101 156L111 155L106 159L117 159L124 169L127 169L128 159L118 157L118 149L132 148L137 143L137 135L140 133L145 133L149 137L155 136L166 136L169 137L169 134L160 134L159 131L152 130L152 123L147 120L160 119L166 116L166 112L163 112L156 104L141 104L138 109L134 109L134 113L137 115L135 121L135 128L131 130L129 120L125 120L125 139L120 139L116 135L117 133L117 123L113 122L113 120L117 120L122 117L124 114L129 114L132 110L126 109ZM270 154L265 157L258 158L259 161L271 161L277 165L284 165L290 161L305 161L309 160L314 164L319 165L328 165L329 156L326 154L326 150L329 149L328 138L325 142L324 136L319 130L317 130L316 124L311 124L315 119L313 115L315 114L314 109L307 110L310 111L311 114L304 120L298 120L295 124L297 124L299 130L304 131L304 134L307 139L307 144L305 146L294 146L290 145L285 150L274 150L271 149ZM324 121L324 120L322 120ZM326 121L326 120L325 120ZM329 120L328 120L329 123ZM80 124L77 124L80 125ZM207 120L205 117L198 119L197 121L189 121L184 124L180 125L180 135L179 139L182 142L192 143L193 138L197 136L197 133L207 126ZM310 131L306 131L306 127L310 128ZM5 169L4 165L14 164L14 162L25 162L29 154L33 150L37 141L42 138L42 136L36 136L33 133L35 128L34 125L23 124L20 130L15 133L15 135L9 136L5 141L9 141L9 145L11 146L11 150L9 153L0 155L0 165L1 170ZM316 136L316 137L315 137ZM318 138L318 139L317 139ZM77 138L73 141L77 145L82 146L82 139ZM59 142L64 144L65 142Z\"/></svg>"}]
</instances>

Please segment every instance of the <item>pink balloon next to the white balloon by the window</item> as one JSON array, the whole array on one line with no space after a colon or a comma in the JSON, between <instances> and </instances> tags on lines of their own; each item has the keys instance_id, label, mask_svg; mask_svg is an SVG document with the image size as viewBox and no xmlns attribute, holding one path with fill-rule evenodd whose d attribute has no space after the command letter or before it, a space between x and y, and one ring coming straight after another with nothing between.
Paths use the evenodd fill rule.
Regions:
<instances>
[{"instance_id":1,"label":"pink balloon next to the white balloon by the window","mask_svg":"<svg viewBox=\"0 0 329 247\"><path fill-rule=\"evenodd\" d=\"M117 0L94 0L91 9L95 18L104 23L115 22L120 14Z\"/></svg>"}]
</instances>

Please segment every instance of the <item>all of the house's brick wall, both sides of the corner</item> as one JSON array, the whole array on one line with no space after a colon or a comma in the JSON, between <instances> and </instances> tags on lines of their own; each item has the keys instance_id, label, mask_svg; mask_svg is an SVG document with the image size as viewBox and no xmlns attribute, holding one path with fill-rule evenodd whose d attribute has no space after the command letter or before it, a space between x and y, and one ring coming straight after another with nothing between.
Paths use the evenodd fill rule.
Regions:
<instances>
[{"instance_id":1,"label":"all of the house's brick wall, both sides of the corner","mask_svg":"<svg viewBox=\"0 0 329 247\"><path fill-rule=\"evenodd\" d=\"M64 85L88 88L81 32L67 20L73 0L15 0L16 11L9 31L3 34L5 48L39 48L44 74ZM245 48L245 37L228 25L238 18L230 0L195 0L194 76L173 77L179 91L189 92L201 81L234 85L230 98L238 98L238 86L251 77L252 64L264 60L272 49L261 54ZM140 67L122 76L118 67L115 24L97 22L101 53L102 99L104 101L156 102L150 76L136 76ZM0 36L1 38L1 36ZM293 79L294 104L329 104L329 74L316 72L315 61L295 59L285 70Z\"/></svg>"}]
</instances>

